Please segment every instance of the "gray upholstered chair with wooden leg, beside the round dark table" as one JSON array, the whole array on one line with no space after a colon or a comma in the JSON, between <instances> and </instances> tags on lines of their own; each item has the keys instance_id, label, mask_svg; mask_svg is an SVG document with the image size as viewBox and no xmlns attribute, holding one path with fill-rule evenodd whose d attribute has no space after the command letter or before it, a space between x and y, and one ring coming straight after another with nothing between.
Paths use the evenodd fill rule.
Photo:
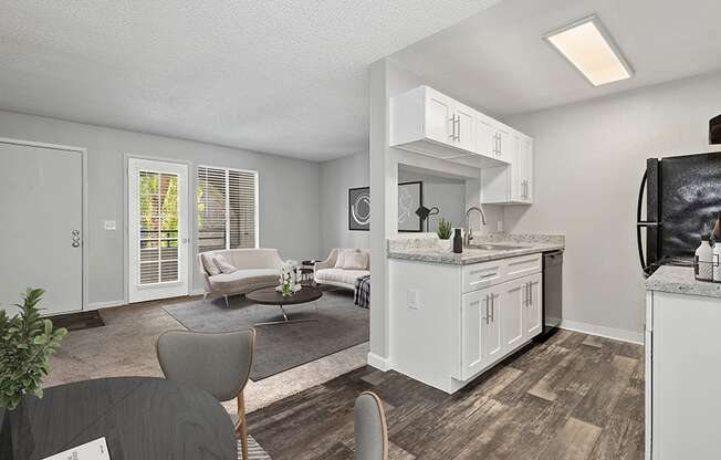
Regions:
<instances>
[{"instance_id":1,"label":"gray upholstered chair with wooden leg, beside the round dark table","mask_svg":"<svg viewBox=\"0 0 721 460\"><path fill-rule=\"evenodd\" d=\"M222 333L167 331L156 344L167 379L205 389L219 401L238 398L238 416L231 415L231 419L240 436L243 460L248 459L243 389L254 349L255 330L252 328Z\"/></svg>"}]
</instances>

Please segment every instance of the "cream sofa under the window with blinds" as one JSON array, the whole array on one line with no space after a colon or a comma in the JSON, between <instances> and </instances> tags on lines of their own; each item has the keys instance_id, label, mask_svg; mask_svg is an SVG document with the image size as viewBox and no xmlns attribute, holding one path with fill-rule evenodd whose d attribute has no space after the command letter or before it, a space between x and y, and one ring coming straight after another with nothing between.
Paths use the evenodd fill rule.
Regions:
<instances>
[{"instance_id":1,"label":"cream sofa under the window with blinds","mask_svg":"<svg viewBox=\"0 0 721 460\"><path fill-rule=\"evenodd\" d=\"M232 273L210 274L208 265L215 255L222 254L236 269ZM228 249L198 254L198 266L205 278L208 295L223 295L228 306L228 295L244 294L260 288L278 285L283 264L278 249Z\"/></svg>"}]
</instances>

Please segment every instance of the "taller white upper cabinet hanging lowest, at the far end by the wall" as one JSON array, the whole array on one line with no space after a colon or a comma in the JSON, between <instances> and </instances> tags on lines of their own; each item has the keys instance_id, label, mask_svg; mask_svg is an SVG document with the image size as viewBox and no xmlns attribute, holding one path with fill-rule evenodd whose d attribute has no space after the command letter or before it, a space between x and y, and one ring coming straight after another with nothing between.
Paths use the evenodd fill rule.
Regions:
<instances>
[{"instance_id":1,"label":"taller white upper cabinet hanging lowest, at the far end by the wall","mask_svg":"<svg viewBox=\"0 0 721 460\"><path fill-rule=\"evenodd\" d=\"M531 205L533 202L533 139L512 133L503 155L510 165L481 169L481 203Z\"/></svg>"}]
</instances>

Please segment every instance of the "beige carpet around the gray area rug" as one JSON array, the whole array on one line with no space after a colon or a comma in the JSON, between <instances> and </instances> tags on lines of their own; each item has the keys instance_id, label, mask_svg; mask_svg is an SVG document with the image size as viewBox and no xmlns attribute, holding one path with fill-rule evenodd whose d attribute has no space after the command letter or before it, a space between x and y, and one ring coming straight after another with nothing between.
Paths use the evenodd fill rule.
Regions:
<instances>
[{"instance_id":1,"label":"beige carpet around the gray area rug","mask_svg":"<svg viewBox=\"0 0 721 460\"><path fill-rule=\"evenodd\" d=\"M199 297L186 297L186 302ZM105 326L71 331L58 354L50 359L50 375L44 387L90 378L150 376L160 377L155 343L164 331L182 330L164 305L180 299L123 305L100 311ZM245 409L250 414L261 407L327 381L366 364L368 343L344 349L312 363L294 367L245 386ZM223 402L237 411L236 400ZM252 432L251 432L252 435Z\"/></svg>"}]
</instances>

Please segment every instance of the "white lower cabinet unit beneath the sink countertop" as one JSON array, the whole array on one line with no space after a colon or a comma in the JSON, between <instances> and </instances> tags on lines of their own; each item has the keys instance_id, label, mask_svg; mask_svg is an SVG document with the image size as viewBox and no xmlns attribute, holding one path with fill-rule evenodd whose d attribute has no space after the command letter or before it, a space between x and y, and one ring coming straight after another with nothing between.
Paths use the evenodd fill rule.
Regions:
<instances>
[{"instance_id":1,"label":"white lower cabinet unit beneath the sink countertop","mask_svg":"<svg viewBox=\"0 0 721 460\"><path fill-rule=\"evenodd\" d=\"M541 254L457 265L388 259L388 368L449 394L541 332Z\"/></svg>"}]
</instances>

